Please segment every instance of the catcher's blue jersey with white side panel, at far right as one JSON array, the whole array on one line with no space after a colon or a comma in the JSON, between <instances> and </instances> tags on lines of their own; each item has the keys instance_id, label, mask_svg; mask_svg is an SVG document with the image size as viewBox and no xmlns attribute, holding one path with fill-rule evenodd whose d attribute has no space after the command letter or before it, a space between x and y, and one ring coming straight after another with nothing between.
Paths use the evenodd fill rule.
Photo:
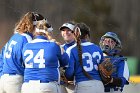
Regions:
<instances>
[{"instance_id":1,"label":"catcher's blue jersey with white side panel, at far right","mask_svg":"<svg viewBox=\"0 0 140 93\"><path fill-rule=\"evenodd\" d=\"M110 58L111 62L113 63L115 71L112 73L112 77L118 77L121 78L122 84L121 89L123 89L124 85L129 84L129 69L126 62L126 58L124 57L118 57L118 56L105 56L106 58ZM116 86L110 86L106 85L105 90L108 90L110 88L116 88Z\"/></svg>"}]
</instances>

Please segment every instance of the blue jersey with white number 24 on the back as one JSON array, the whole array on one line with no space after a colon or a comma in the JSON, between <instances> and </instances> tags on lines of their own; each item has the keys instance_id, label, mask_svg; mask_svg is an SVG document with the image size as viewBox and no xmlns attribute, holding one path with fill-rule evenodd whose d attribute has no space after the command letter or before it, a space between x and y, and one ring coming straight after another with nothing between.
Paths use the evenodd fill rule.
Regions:
<instances>
[{"instance_id":1,"label":"blue jersey with white number 24 on the back","mask_svg":"<svg viewBox=\"0 0 140 93\"><path fill-rule=\"evenodd\" d=\"M41 82L60 82L60 66L68 65L68 55L62 60L62 51L55 42L44 36L37 36L23 49L25 63L24 82L40 80Z\"/></svg>"}]
</instances>

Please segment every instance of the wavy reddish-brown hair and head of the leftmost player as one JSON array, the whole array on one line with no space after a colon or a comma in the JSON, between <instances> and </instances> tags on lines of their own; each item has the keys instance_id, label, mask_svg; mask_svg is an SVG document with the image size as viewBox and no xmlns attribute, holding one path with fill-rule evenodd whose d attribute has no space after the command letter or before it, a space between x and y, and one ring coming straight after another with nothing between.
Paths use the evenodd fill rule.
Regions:
<instances>
[{"instance_id":1,"label":"wavy reddish-brown hair and head of the leftmost player","mask_svg":"<svg viewBox=\"0 0 140 93\"><path fill-rule=\"evenodd\" d=\"M27 12L19 22L16 24L15 30L19 33L34 31L34 26L36 25L36 21L43 20L44 17L41 14L37 14L34 12Z\"/></svg>"}]
</instances>

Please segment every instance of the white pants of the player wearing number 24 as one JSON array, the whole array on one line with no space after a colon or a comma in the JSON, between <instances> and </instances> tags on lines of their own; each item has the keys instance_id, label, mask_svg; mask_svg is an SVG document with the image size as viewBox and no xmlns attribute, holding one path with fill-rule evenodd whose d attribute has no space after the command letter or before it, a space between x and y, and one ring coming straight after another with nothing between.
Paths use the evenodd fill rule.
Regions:
<instances>
[{"instance_id":1,"label":"white pants of the player wearing number 24","mask_svg":"<svg viewBox=\"0 0 140 93\"><path fill-rule=\"evenodd\" d=\"M61 93L57 82L40 83L40 80L30 80L22 85L21 93Z\"/></svg>"}]
</instances>

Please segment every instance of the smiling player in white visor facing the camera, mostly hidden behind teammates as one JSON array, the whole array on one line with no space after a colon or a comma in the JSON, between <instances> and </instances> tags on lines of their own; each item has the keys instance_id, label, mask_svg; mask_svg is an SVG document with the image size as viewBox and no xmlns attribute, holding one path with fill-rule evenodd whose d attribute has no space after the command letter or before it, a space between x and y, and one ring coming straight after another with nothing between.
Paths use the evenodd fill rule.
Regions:
<instances>
[{"instance_id":1,"label":"smiling player in white visor facing the camera, mostly hidden behind teammates","mask_svg":"<svg viewBox=\"0 0 140 93\"><path fill-rule=\"evenodd\" d=\"M70 46L75 44L74 34L72 33L75 27L75 22L66 22L64 23L59 30L61 31L61 35L66 42L62 45L64 50L66 51ZM74 92L74 84L66 84L61 81L61 91L62 93L73 93Z\"/></svg>"}]
</instances>

